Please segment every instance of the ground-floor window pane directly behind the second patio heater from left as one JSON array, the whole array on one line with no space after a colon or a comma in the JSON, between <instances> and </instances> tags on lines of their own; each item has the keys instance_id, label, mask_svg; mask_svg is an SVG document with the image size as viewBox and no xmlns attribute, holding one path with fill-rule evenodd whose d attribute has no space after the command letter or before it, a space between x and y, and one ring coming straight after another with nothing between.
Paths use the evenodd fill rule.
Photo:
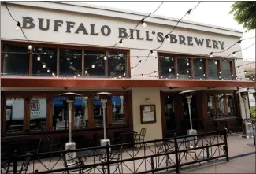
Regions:
<instances>
[{"instance_id":1,"label":"ground-floor window pane directly behind the second patio heater from left","mask_svg":"<svg viewBox=\"0 0 256 174\"><path fill-rule=\"evenodd\" d=\"M102 102L94 96L93 99L93 109L94 109L94 119L95 119L95 128L103 127L103 108L102 108ZM106 113L106 123L107 123L107 105L105 109Z\"/></svg>"}]
</instances>

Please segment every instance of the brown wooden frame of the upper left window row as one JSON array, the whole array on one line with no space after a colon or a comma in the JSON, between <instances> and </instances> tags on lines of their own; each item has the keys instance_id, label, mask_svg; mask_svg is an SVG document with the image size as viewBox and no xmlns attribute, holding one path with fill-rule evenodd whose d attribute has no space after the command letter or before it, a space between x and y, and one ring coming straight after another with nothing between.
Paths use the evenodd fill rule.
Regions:
<instances>
[{"instance_id":1,"label":"brown wooden frame of the upper left window row","mask_svg":"<svg viewBox=\"0 0 256 174\"><path fill-rule=\"evenodd\" d=\"M28 46L28 43L20 41L20 42L15 42L15 41L2 41L1 42L1 48L3 49L4 45L8 44L10 46ZM105 47L91 47L91 46L81 46L81 45L61 45L61 44L49 44L49 43L32 43L32 46L35 47L48 47L48 48L56 48L57 49L57 72L56 72L56 76L60 76L60 49L72 49L72 50L81 50L82 53L82 59L81 59L81 70L82 73L80 74L80 76L83 77L87 77L84 74L85 71L85 67L84 67L84 63L86 63L86 60L84 58L84 54L86 54L87 50L102 50L104 51L106 54L108 54L109 52L125 52L126 53L126 75L127 76L131 76L131 65L130 65L130 50L125 50L125 49L109 49L109 48L105 48ZM1 73L3 72L3 56L4 53L2 52L1 54ZM109 76L108 75L108 59L105 61L105 76L98 76L98 77L106 77ZM33 57L32 57L32 50L30 51L30 57L29 57L29 75L28 76L33 76L32 74L32 65L33 65ZM8 75L7 75L8 76Z\"/></svg>"}]
</instances>

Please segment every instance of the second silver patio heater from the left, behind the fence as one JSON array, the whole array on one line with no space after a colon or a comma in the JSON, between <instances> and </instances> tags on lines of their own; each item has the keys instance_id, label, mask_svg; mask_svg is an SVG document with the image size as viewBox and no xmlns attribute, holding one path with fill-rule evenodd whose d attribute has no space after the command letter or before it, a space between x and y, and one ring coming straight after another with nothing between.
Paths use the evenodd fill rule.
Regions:
<instances>
[{"instance_id":1,"label":"second silver patio heater from the left, behind the fence","mask_svg":"<svg viewBox=\"0 0 256 174\"><path fill-rule=\"evenodd\" d=\"M109 96L113 95L109 92L99 92L96 95L96 98L102 102L103 109L103 131L104 131L104 139L100 140L101 146L106 146L107 143L110 145L110 139L106 139L106 102L108 101Z\"/></svg>"}]
</instances>

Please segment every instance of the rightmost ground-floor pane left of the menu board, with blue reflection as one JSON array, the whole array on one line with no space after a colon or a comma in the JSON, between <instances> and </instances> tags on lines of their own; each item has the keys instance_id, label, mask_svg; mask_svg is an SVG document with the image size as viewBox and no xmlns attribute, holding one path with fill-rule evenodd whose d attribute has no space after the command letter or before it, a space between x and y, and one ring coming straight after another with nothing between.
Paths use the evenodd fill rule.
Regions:
<instances>
[{"instance_id":1,"label":"rightmost ground-floor pane left of the menu board, with blue reflection","mask_svg":"<svg viewBox=\"0 0 256 174\"><path fill-rule=\"evenodd\" d=\"M125 104L124 96L113 96L112 101L112 117L113 125L125 126Z\"/></svg>"}]
</instances>

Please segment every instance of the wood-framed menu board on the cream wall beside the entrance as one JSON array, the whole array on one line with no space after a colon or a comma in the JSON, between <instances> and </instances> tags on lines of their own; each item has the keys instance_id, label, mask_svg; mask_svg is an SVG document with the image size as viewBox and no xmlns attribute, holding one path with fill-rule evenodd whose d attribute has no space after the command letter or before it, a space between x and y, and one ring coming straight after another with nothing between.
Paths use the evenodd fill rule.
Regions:
<instances>
[{"instance_id":1,"label":"wood-framed menu board on the cream wall beside the entrance","mask_svg":"<svg viewBox=\"0 0 256 174\"><path fill-rule=\"evenodd\" d=\"M140 123L150 124L156 123L155 105L141 105L140 106Z\"/></svg>"}]
</instances>

